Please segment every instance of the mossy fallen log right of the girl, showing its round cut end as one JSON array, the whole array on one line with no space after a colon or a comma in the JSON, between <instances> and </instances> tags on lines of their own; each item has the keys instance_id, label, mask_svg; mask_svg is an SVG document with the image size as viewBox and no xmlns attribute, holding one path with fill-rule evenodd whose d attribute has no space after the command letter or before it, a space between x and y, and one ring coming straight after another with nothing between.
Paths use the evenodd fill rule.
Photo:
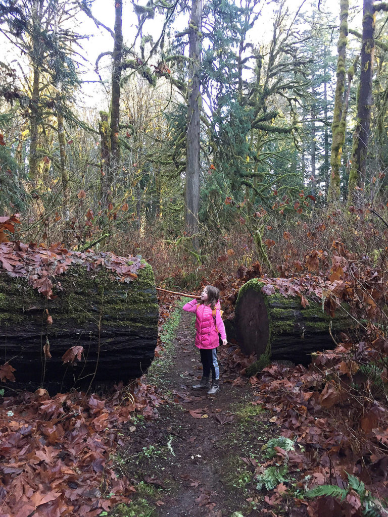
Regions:
<instances>
[{"instance_id":1,"label":"mossy fallen log right of the girl, showing its round cut end","mask_svg":"<svg viewBox=\"0 0 388 517\"><path fill-rule=\"evenodd\" d=\"M258 279L249 280L236 300L236 339L247 355L255 352L258 357L265 354L307 363L311 353L335 347L332 336L352 327L353 320L344 310L332 318L322 312L322 303L309 298L304 308L299 296L267 295L264 285Z\"/></svg>"}]
</instances>

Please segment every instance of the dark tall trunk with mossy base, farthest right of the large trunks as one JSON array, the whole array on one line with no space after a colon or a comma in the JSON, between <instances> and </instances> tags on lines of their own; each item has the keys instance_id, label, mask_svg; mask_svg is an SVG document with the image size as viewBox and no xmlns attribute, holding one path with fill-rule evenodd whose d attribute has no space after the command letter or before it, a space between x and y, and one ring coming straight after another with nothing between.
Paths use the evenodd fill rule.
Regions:
<instances>
[{"instance_id":1,"label":"dark tall trunk with mossy base, farthest right of the large trunks","mask_svg":"<svg viewBox=\"0 0 388 517\"><path fill-rule=\"evenodd\" d=\"M370 114L373 105L372 77L375 55L375 11L373 5L374 0L364 0L360 86L357 93L357 119L353 133L348 203L352 202L355 188L362 187L366 178Z\"/></svg>"}]
</instances>

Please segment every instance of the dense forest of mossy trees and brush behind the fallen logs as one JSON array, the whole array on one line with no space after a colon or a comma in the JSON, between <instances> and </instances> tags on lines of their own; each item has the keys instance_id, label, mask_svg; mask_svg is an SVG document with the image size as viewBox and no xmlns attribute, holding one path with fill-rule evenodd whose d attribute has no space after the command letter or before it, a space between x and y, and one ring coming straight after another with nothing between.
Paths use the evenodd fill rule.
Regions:
<instances>
[{"instance_id":1,"label":"dense forest of mossy trees and brush behind the fallen logs","mask_svg":"<svg viewBox=\"0 0 388 517\"><path fill-rule=\"evenodd\" d=\"M104 9L112 27L84 0L0 6L14 239L141 254L170 287L257 261L287 277L311 252L331 266L333 241L383 267L386 3ZM74 27L107 36L92 79Z\"/></svg>"}]
</instances>

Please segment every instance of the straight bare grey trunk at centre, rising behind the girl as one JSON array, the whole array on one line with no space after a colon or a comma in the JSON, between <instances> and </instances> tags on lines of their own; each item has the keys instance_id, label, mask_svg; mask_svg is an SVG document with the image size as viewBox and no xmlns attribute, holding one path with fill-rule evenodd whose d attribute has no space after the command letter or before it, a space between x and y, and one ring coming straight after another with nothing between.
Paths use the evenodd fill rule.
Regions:
<instances>
[{"instance_id":1,"label":"straight bare grey trunk at centre, rising behind the girl","mask_svg":"<svg viewBox=\"0 0 388 517\"><path fill-rule=\"evenodd\" d=\"M202 0L192 0L189 33L189 82L186 144L185 222L188 235L194 235L193 245L198 248L199 213L199 160L200 160L200 53Z\"/></svg>"}]
</instances>

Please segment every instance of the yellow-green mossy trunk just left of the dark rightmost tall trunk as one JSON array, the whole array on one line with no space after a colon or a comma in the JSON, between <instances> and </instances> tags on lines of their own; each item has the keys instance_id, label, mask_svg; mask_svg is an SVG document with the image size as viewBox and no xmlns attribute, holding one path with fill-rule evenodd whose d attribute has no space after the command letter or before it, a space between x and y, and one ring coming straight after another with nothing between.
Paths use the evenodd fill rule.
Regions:
<instances>
[{"instance_id":1,"label":"yellow-green mossy trunk just left of the dark rightmost tall trunk","mask_svg":"<svg viewBox=\"0 0 388 517\"><path fill-rule=\"evenodd\" d=\"M334 97L334 113L332 124L332 154L331 154L331 175L329 187L329 202L339 199L340 196L340 175L342 147L345 143L346 113L344 113L344 92L345 92L345 67L346 67L346 45L348 37L348 12L349 1L340 0L339 13L339 38L337 43L337 84Z\"/></svg>"}]
</instances>

